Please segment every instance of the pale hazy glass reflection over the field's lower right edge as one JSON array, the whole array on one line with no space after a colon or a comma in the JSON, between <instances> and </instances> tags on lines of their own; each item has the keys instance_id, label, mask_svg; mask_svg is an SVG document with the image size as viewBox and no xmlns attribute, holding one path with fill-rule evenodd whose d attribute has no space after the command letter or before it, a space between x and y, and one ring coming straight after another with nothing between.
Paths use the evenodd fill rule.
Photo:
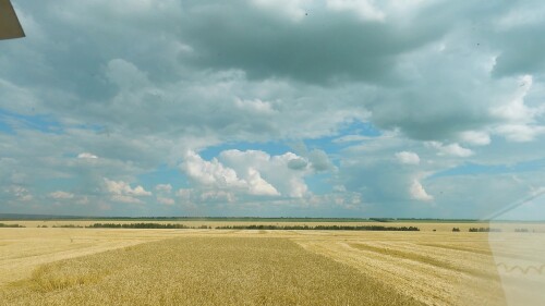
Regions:
<instances>
[{"instance_id":1,"label":"pale hazy glass reflection over the field's lower right edge","mask_svg":"<svg viewBox=\"0 0 545 306\"><path fill-rule=\"evenodd\" d=\"M507 305L544 305L545 188L533 188L485 220L495 230L488 244Z\"/></svg>"}]
</instances>

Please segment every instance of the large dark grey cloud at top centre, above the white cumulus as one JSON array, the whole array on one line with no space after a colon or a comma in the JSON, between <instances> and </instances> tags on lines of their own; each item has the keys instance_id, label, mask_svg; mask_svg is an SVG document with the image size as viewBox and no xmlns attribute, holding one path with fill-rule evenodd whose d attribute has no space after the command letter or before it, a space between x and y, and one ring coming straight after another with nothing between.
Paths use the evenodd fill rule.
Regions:
<instances>
[{"instance_id":1,"label":"large dark grey cloud at top centre, above the white cumulus","mask_svg":"<svg viewBox=\"0 0 545 306\"><path fill-rule=\"evenodd\" d=\"M396 26L396 19L391 24L362 23L362 19L384 19L385 13L371 1L308 1L304 9L301 5L307 1L288 1L286 7L252 2L254 5L244 1L187 4L192 13L184 15L181 36L198 57L186 59L199 68L244 70L251 78L377 81L392 71L397 54L440 37L445 28L412 23ZM415 17L426 13L410 12ZM215 32L205 20L215 21Z\"/></svg>"}]
</instances>

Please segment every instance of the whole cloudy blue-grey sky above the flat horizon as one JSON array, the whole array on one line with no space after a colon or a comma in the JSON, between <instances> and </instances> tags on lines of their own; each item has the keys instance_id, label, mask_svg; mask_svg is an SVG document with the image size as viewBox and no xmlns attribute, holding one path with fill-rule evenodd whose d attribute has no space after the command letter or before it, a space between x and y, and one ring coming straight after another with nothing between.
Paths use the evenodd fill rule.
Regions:
<instances>
[{"instance_id":1,"label":"whole cloudy blue-grey sky above the flat horizon","mask_svg":"<svg viewBox=\"0 0 545 306\"><path fill-rule=\"evenodd\" d=\"M540 0L12 3L0 212L545 219Z\"/></svg>"}]
</instances>

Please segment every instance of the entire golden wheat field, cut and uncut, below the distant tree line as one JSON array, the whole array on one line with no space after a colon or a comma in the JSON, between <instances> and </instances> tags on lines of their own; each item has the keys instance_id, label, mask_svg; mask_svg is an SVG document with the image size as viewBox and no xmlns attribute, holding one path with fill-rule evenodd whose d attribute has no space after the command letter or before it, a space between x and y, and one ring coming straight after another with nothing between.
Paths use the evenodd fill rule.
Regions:
<instances>
[{"instance_id":1,"label":"entire golden wheat field, cut and uncut, below the distant tree line","mask_svg":"<svg viewBox=\"0 0 545 306\"><path fill-rule=\"evenodd\" d=\"M428 230L0 229L0 305L543 301L543 224L526 233L417 225Z\"/></svg>"}]
</instances>

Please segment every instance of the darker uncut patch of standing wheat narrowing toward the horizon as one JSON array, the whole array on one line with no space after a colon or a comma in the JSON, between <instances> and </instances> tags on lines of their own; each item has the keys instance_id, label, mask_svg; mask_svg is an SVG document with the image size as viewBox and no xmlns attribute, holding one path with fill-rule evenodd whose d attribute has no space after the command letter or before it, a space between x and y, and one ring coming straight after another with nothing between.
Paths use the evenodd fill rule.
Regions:
<instances>
[{"instance_id":1,"label":"darker uncut patch of standing wheat narrowing toward the horizon","mask_svg":"<svg viewBox=\"0 0 545 306\"><path fill-rule=\"evenodd\" d=\"M419 305L287 238L182 237L49 264L7 305Z\"/></svg>"}]
</instances>

